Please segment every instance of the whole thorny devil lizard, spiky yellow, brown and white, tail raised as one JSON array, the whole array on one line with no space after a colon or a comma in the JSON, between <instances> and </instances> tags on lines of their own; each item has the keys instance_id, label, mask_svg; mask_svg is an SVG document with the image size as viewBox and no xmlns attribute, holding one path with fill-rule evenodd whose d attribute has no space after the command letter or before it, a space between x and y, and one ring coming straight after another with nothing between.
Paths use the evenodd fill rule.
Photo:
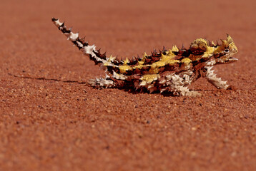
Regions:
<instances>
[{"instance_id":1,"label":"whole thorny devil lizard, spiky yellow, brown and white, tail raised","mask_svg":"<svg viewBox=\"0 0 256 171\"><path fill-rule=\"evenodd\" d=\"M105 78L96 78L90 81L96 88L127 88L129 90L167 92L173 95L200 95L194 90L189 90L192 82L201 76L207 78L216 88L228 89L227 81L222 81L213 73L212 67L221 63L237 61L234 56L237 47L232 38L227 35L227 40L215 44L197 38L186 49L173 46L167 51L153 51L150 56L144 53L142 58L126 58L119 60L115 57L100 53L96 46L89 46L84 38L79 38L79 33L73 33L71 28L64 26L59 19L51 19L59 30L82 50L95 64L106 69Z\"/></svg>"}]
</instances>

